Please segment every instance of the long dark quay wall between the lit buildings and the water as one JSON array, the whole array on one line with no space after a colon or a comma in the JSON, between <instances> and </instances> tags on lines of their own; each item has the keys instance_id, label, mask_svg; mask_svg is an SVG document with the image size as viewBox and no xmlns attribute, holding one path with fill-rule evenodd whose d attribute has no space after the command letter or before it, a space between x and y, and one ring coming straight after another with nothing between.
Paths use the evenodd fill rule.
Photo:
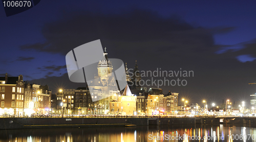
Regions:
<instances>
[{"instance_id":1,"label":"long dark quay wall between the lit buildings and the water","mask_svg":"<svg viewBox=\"0 0 256 142\"><path fill-rule=\"evenodd\" d=\"M170 116L48 116L48 117L3 117L0 129L31 128L79 128L79 127L119 127L147 125L214 125L248 124L256 125L256 118L251 117L170 117Z\"/></svg>"}]
</instances>

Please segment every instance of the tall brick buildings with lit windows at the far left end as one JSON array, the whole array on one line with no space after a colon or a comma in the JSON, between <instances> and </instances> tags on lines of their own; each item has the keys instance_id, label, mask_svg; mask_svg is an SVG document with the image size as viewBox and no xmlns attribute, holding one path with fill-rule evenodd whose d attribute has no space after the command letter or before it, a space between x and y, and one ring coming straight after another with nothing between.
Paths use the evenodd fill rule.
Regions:
<instances>
[{"instance_id":1,"label":"tall brick buildings with lit windows at the far left end","mask_svg":"<svg viewBox=\"0 0 256 142\"><path fill-rule=\"evenodd\" d=\"M49 87L26 83L23 75L0 77L1 114L30 115L33 112L49 113L51 91Z\"/></svg>"}]
</instances>

